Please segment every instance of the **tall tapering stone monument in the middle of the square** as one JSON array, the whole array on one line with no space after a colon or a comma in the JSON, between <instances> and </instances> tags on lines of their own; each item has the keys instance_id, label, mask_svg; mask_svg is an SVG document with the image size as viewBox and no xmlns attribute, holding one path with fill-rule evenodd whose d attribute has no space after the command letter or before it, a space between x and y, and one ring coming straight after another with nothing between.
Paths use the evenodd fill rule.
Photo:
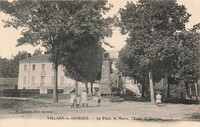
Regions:
<instances>
[{"instance_id":1,"label":"tall tapering stone monument in the middle of the square","mask_svg":"<svg viewBox=\"0 0 200 127\"><path fill-rule=\"evenodd\" d=\"M102 95L111 94L111 79L110 79L110 54L108 52L103 53L101 80L99 84L99 92Z\"/></svg>"}]
</instances>

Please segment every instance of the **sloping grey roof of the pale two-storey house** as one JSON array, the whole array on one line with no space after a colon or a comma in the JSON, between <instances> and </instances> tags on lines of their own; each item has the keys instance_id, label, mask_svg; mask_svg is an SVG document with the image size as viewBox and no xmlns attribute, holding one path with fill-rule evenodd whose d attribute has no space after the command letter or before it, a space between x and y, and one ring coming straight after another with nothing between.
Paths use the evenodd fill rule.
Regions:
<instances>
[{"instance_id":1,"label":"sloping grey roof of the pale two-storey house","mask_svg":"<svg viewBox=\"0 0 200 127\"><path fill-rule=\"evenodd\" d=\"M21 60L20 63L50 63L49 60L50 57L51 54L37 55L37 56L32 56L25 60Z\"/></svg>"}]
</instances>

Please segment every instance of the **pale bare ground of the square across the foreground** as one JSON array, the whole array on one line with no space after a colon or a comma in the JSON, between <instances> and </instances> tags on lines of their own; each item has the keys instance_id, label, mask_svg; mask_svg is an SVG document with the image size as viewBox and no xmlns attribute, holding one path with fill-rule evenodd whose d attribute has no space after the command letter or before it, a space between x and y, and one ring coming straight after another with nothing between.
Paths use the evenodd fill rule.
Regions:
<instances>
[{"instance_id":1,"label":"pale bare ground of the square across the foreground","mask_svg":"<svg viewBox=\"0 0 200 127\"><path fill-rule=\"evenodd\" d=\"M88 107L71 108L66 95L53 104L49 98L0 98L0 119L36 118L68 120L152 120L152 121L200 121L200 105L162 104L150 102L103 101L98 107L90 98Z\"/></svg>"}]
</instances>

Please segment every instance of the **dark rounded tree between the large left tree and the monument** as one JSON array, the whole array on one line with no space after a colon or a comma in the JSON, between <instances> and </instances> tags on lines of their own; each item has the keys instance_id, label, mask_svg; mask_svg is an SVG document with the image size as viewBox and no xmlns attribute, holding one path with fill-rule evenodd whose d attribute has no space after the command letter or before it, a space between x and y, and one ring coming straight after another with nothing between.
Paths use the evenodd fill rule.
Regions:
<instances>
[{"instance_id":1,"label":"dark rounded tree between the large left tree and the monument","mask_svg":"<svg viewBox=\"0 0 200 127\"><path fill-rule=\"evenodd\" d=\"M76 93L78 81L94 83L101 71L102 54L105 50L98 44L90 45L76 53L68 55L63 59L65 74L76 82Z\"/></svg>"}]
</instances>

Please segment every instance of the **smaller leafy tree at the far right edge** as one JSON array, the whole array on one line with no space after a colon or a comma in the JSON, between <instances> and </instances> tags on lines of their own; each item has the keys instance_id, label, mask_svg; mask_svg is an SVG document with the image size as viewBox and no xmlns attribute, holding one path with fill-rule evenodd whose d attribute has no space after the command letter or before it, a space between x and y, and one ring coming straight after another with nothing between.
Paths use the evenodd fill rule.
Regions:
<instances>
[{"instance_id":1,"label":"smaller leafy tree at the far right edge","mask_svg":"<svg viewBox=\"0 0 200 127\"><path fill-rule=\"evenodd\" d=\"M199 79L199 38L196 31L182 31L177 35L181 49L178 56L177 73L180 82L185 85L186 93L189 94L189 85L195 85Z\"/></svg>"}]
</instances>

